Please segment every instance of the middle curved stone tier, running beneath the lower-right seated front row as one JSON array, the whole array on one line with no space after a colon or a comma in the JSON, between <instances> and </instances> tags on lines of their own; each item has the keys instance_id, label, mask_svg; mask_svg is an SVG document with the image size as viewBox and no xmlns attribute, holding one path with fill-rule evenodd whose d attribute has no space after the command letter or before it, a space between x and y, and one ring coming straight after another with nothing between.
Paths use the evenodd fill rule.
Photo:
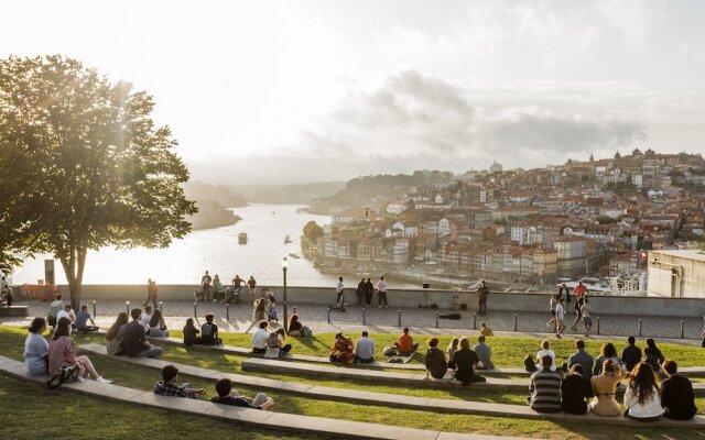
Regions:
<instances>
[{"instance_id":1,"label":"middle curved stone tier, running beneath the lower-right seated front row","mask_svg":"<svg viewBox=\"0 0 705 440\"><path fill-rule=\"evenodd\" d=\"M79 349L84 351L88 351L90 353L95 353L95 354L107 355L106 348L99 344L80 345ZM600 424L600 425L609 424L609 425L620 425L620 426L642 426L642 422L637 422L625 417L599 417L599 416L595 416L594 414L588 414L585 416L570 415L564 413L540 414L529 408L525 405L507 405L507 404L492 404L492 403L484 403L484 402L451 400L451 399L438 399L438 398L426 398L426 397L400 396L397 394L389 394L389 393L375 393L375 392L364 392L358 389L337 388L337 387L329 387L329 386L297 384L292 382L248 376L242 374L224 373L224 372L218 372L214 370L195 367L186 364L145 359L145 358L111 356L111 359L116 359L121 362L127 362L133 365L155 369L155 370L161 370L164 365L172 364L172 365L175 365L182 374L199 377L203 380L215 381L217 378L227 377L230 381L232 381L232 383L235 384L256 387L260 391L267 389L272 392L284 392L284 393L291 393L300 396L327 399L327 400L349 402L349 403L356 403L356 404L369 404L369 405L376 405L376 406L387 406L387 407L405 408L405 409L432 410L432 411L438 411L438 413L543 419L543 420L555 420L555 421L570 421L570 422L576 422L576 424ZM682 426L682 422L669 420L664 418L652 425ZM696 416L692 421L686 421L685 426L704 427L705 417Z\"/></svg>"}]
</instances>

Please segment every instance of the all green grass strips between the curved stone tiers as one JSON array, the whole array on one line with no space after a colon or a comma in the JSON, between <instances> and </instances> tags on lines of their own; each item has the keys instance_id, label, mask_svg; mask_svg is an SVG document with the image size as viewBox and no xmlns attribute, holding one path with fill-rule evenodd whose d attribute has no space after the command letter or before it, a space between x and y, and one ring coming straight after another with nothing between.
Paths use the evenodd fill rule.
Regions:
<instances>
[{"instance_id":1,"label":"all green grass strips between the curved stone tiers","mask_svg":"<svg viewBox=\"0 0 705 440\"><path fill-rule=\"evenodd\" d=\"M0 354L22 360L22 348L25 329L0 327ZM247 346L250 337L245 334L224 333L226 344ZM294 339L290 338L290 342L294 345L294 351L301 354L327 355L328 346L333 343L333 334L318 334L315 338ZM394 340L393 336L373 334L379 353L381 349ZM416 337L417 340L425 340L427 337ZM101 343L100 336L76 336L78 344L96 342ZM441 338L443 344L447 344L449 338ZM531 352L535 353L541 340L538 338L491 338L489 343L496 356L496 364L500 367L516 367L521 365L523 356ZM552 341L553 342L553 341ZM573 352L573 341L563 340L554 344L554 350L558 358L567 356ZM595 353L601 344L599 341L588 341L588 350ZM618 343L618 349L623 344ZM176 345L164 345L166 352L163 360L200 366L210 370L217 370L229 373L241 373L257 376L265 376L296 383L310 383L316 385L325 385L332 387L354 388L361 391L371 391L379 393L395 393L403 396L432 397L443 399L462 399L488 403L514 404L523 405L523 393L506 393L492 392L470 388L457 389L433 389L433 388L402 388L388 385L358 384L350 381L321 381L312 377L299 377L289 375L272 374L253 374L241 372L240 363L245 356L229 355L217 353L215 351L186 349ZM682 365L705 365L705 356L701 353L701 349L687 348L673 344L663 344L661 346L664 355L676 359ZM510 353L511 351L511 353ZM112 360L107 356L91 355L94 364L98 372L106 377L115 381L116 384L130 386L140 389L151 389L154 383L160 378L158 371L143 366L137 366ZM417 354L414 361L421 361ZM196 387L205 387L209 396L215 393L215 381L206 381L197 377L182 376L181 381L192 382ZM236 388L248 395L253 395L257 389L250 389L236 385ZM340 403L325 399L312 399L303 396L296 396L289 393L269 393L275 402L275 411L299 414L326 418L341 418L348 420L367 421L383 425L406 426L421 429L437 429L448 432L473 432L485 435L501 436L520 436L547 439L702 439L705 437L705 430L673 428L664 429L661 432L654 430L646 430L640 427L614 427L603 425L581 425L565 424L555 421L529 420L522 418L502 418L502 417L485 417L459 415L452 413L434 413L425 410L409 410L399 408L389 408L384 406L373 405L356 405L350 403ZM80 411L86 419L101 418L104 425L100 426L100 432L95 432L100 438L123 438L128 426L122 421L124 419L143 420L144 408L130 408L124 405L110 402L98 400L95 398L76 396L75 394L50 392L37 387L34 384L23 383L8 377L0 381L0 403L6 411L7 420L3 424L3 431L10 433L22 433L26 437L29 433L51 435L53 438L62 438L61 432L65 432L65 438L75 438L75 429L73 420L76 413ZM705 411L705 398L697 398L696 404L701 411ZM47 411L52 411L56 417L52 418L51 424L42 426L36 424L37 419L44 417ZM173 438L175 435L183 435L185 431L199 432L212 436L248 436L248 438L270 439L282 438L281 432L252 431L234 427L225 422L217 422L207 419L194 419L191 417L169 414L161 410L149 410L150 420L153 420L154 428L150 431L154 433L154 438ZM115 415L124 415L118 419ZM107 417L106 417L107 416ZM83 416L82 416L83 417ZM48 419L47 419L48 420ZM65 421L62 421L65 420ZM51 425L51 426L50 426ZM28 428L30 427L30 428ZM65 429L62 429L64 428ZM8 431L9 429L9 431ZM105 431L105 432L104 432ZM58 437L57 437L57 432ZM93 433L93 432L91 432ZM251 437L250 433L252 435ZM10 436L12 437L12 436ZM286 436L288 438L312 438Z\"/></svg>"}]
</instances>

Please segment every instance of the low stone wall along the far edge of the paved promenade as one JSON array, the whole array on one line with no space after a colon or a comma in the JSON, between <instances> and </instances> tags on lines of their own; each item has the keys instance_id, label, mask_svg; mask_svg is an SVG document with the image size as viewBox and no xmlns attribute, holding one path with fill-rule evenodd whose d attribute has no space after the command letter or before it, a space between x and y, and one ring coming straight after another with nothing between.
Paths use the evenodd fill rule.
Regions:
<instances>
[{"instance_id":1,"label":"low stone wall along the far edge of the paved promenade","mask_svg":"<svg viewBox=\"0 0 705 440\"><path fill-rule=\"evenodd\" d=\"M193 300L195 285L160 285L159 299ZM282 287L270 287L278 300L282 300ZM20 287L21 290L21 287ZM58 292L68 297L68 287L59 286ZM247 288L245 289L247 292ZM466 304L468 310L477 310L477 294L467 290L438 290L438 289L390 289L387 293L391 308L394 307L431 307L436 305L441 309L451 309L454 297L459 304ZM288 287L288 302L296 304L333 304L336 300L336 292L332 287ZM142 285L86 285L83 288L83 298L86 300L98 299L124 299L140 304L147 298L147 288ZM488 310L505 311L545 311L549 314L547 293L490 293L487 301ZM348 304L357 304L355 289L345 289L345 300ZM372 304L377 304L377 294L372 297ZM590 305L595 315L629 315L629 316L668 316L668 317L703 317L705 315L705 301L697 298L664 298L641 296L593 296ZM566 305L572 308L573 302Z\"/></svg>"}]
</instances>

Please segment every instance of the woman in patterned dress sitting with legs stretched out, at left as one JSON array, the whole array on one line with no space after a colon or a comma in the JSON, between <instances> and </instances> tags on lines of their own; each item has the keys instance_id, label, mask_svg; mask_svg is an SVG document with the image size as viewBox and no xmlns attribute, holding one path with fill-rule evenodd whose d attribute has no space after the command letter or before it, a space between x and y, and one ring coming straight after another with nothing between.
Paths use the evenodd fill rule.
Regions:
<instances>
[{"instance_id":1,"label":"woman in patterned dress sitting with legs stretched out, at left","mask_svg":"<svg viewBox=\"0 0 705 440\"><path fill-rule=\"evenodd\" d=\"M111 382L98 374L88 356L76 355L76 342L70 338L70 320L68 318L62 318L56 323L54 337L48 343L47 354L50 377L58 376L64 366L78 365L78 381L83 382L84 378L90 376L100 384Z\"/></svg>"}]
</instances>

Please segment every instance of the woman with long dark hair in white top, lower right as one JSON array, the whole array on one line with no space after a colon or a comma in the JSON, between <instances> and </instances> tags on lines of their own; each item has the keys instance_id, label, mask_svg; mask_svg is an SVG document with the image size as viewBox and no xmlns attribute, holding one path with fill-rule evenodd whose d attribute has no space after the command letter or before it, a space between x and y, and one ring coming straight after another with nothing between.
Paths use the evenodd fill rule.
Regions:
<instances>
[{"instance_id":1,"label":"woman with long dark hair in white top, lower right","mask_svg":"<svg viewBox=\"0 0 705 440\"><path fill-rule=\"evenodd\" d=\"M637 421L655 421L661 418L661 389L651 365L640 362L629 376L625 392L625 416Z\"/></svg>"}]
</instances>

